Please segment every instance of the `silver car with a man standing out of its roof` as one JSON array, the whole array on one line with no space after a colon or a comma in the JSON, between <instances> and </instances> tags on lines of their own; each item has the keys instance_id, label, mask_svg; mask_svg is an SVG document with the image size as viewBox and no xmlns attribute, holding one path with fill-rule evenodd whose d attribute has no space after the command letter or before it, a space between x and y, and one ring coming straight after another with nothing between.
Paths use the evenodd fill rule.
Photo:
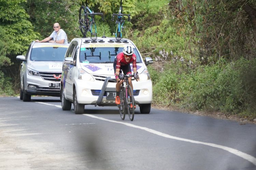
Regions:
<instances>
[{"instance_id":1,"label":"silver car with a man standing out of its roof","mask_svg":"<svg viewBox=\"0 0 256 170\"><path fill-rule=\"evenodd\" d=\"M59 96L62 61L69 44L30 44L26 56L18 55L20 69L20 100L31 100L31 95Z\"/></svg>"}]
</instances>

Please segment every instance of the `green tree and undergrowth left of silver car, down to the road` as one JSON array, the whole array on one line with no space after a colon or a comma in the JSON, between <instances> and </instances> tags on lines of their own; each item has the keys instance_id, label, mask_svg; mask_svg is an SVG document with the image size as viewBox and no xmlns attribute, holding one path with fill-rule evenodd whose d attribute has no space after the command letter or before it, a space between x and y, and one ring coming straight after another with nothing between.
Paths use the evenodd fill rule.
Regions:
<instances>
[{"instance_id":1,"label":"green tree and undergrowth left of silver car, down to the road","mask_svg":"<svg viewBox=\"0 0 256 170\"><path fill-rule=\"evenodd\" d=\"M0 94L13 95L18 85L18 65L15 57L23 54L35 37L34 27L23 8L26 0L0 0ZM12 65L12 62L14 65Z\"/></svg>"}]
</instances>

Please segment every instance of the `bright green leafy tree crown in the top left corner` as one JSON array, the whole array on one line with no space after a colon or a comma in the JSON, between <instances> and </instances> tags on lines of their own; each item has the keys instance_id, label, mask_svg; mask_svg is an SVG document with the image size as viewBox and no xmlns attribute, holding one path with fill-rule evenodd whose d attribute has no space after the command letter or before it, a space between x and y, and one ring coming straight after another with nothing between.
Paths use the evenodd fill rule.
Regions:
<instances>
[{"instance_id":1,"label":"bright green leafy tree crown in the top left corner","mask_svg":"<svg viewBox=\"0 0 256 170\"><path fill-rule=\"evenodd\" d=\"M28 21L29 15L22 4L26 0L0 0L0 27L8 37L7 55L23 53L31 41L39 34ZM11 58L13 59L13 58Z\"/></svg>"}]
</instances>

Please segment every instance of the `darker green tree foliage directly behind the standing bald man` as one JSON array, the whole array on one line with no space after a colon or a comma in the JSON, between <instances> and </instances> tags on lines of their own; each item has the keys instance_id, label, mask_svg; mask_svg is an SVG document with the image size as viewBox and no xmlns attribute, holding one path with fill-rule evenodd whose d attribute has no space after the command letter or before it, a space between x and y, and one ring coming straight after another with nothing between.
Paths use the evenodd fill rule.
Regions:
<instances>
[{"instance_id":1,"label":"darker green tree foliage directly behind the standing bald man","mask_svg":"<svg viewBox=\"0 0 256 170\"><path fill-rule=\"evenodd\" d=\"M82 35L78 24L81 3L81 0L28 0L26 10L30 15L34 30L41 34L39 39L51 35L54 31L53 24L58 22L67 33L68 41L71 41Z\"/></svg>"}]
</instances>

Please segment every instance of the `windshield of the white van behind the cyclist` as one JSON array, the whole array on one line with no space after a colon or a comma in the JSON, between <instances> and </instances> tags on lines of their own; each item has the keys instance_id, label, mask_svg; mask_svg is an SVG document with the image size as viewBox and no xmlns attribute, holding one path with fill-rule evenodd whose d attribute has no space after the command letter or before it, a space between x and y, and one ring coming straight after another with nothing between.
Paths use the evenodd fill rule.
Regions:
<instances>
[{"instance_id":1,"label":"windshield of the white van behind the cyclist","mask_svg":"<svg viewBox=\"0 0 256 170\"><path fill-rule=\"evenodd\" d=\"M80 63L114 63L116 55L123 49L123 47L81 48ZM138 51L134 49L134 52L137 63L142 63Z\"/></svg>"}]
</instances>

